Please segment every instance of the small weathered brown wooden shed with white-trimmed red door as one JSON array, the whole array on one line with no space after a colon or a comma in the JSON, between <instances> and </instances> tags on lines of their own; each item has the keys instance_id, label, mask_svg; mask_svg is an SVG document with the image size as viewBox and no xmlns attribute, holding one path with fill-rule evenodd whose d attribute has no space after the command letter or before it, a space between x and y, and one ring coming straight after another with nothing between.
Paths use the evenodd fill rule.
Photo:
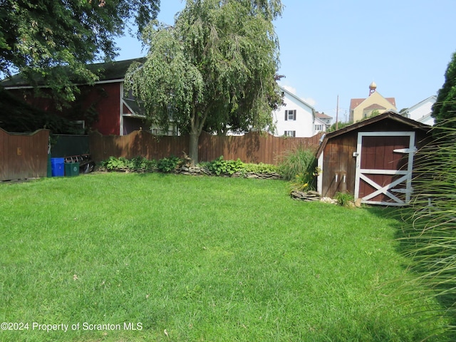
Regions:
<instances>
[{"instance_id":1,"label":"small weathered brown wooden shed with white-trimmed red door","mask_svg":"<svg viewBox=\"0 0 456 342\"><path fill-rule=\"evenodd\" d=\"M431 127L386 112L328 133L316 157L323 197L348 192L361 203L401 206L412 195L413 156Z\"/></svg>"}]
</instances>

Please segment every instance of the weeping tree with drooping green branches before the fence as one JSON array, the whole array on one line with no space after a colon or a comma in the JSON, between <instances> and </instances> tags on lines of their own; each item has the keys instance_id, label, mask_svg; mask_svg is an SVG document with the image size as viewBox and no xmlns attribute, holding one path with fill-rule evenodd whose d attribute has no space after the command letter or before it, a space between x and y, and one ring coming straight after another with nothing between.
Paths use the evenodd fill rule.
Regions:
<instances>
[{"instance_id":1,"label":"weeping tree with drooping green branches before the fence","mask_svg":"<svg viewBox=\"0 0 456 342\"><path fill-rule=\"evenodd\" d=\"M187 0L174 26L155 21L143 31L149 52L130 67L125 87L152 124L167 130L172 120L189 133L193 162L203 128L271 126L281 11L280 0Z\"/></svg>"}]
</instances>

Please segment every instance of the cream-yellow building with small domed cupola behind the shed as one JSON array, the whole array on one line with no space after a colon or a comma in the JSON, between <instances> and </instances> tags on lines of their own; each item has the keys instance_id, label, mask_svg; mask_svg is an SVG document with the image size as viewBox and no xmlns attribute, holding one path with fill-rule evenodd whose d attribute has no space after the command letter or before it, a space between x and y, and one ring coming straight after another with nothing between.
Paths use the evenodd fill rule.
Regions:
<instances>
[{"instance_id":1,"label":"cream-yellow building with small domed cupola behind the shed","mask_svg":"<svg viewBox=\"0 0 456 342\"><path fill-rule=\"evenodd\" d=\"M372 82L369 85L368 98L352 98L350 100L350 121L352 123L368 118L374 110L378 110L380 114L387 111L397 112L395 98L384 98L376 89L377 85Z\"/></svg>"}]
</instances>

